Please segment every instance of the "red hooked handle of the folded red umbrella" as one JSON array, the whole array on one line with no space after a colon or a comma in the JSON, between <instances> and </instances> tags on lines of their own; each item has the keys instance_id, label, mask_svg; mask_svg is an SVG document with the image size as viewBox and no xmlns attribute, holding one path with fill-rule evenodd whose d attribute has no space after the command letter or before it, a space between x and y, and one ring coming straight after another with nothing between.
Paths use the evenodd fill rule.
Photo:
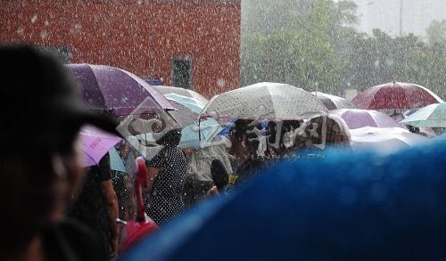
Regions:
<instances>
[{"instance_id":1,"label":"red hooked handle of the folded red umbrella","mask_svg":"<svg viewBox=\"0 0 446 261\"><path fill-rule=\"evenodd\" d=\"M136 222L145 222L145 209L143 201L143 187L147 186L147 167L143 157L135 159L135 190L136 190Z\"/></svg>"}]
</instances>

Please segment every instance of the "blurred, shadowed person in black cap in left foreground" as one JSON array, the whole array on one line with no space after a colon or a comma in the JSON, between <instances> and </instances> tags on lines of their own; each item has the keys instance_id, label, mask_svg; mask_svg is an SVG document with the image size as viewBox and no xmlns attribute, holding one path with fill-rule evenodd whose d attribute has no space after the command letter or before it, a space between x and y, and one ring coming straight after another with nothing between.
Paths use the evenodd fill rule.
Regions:
<instances>
[{"instance_id":1,"label":"blurred, shadowed person in black cap in left foreground","mask_svg":"<svg viewBox=\"0 0 446 261\"><path fill-rule=\"evenodd\" d=\"M84 175L79 129L115 124L85 110L62 64L33 47L0 48L0 73L0 260L104 260L65 210Z\"/></svg>"}]
</instances>

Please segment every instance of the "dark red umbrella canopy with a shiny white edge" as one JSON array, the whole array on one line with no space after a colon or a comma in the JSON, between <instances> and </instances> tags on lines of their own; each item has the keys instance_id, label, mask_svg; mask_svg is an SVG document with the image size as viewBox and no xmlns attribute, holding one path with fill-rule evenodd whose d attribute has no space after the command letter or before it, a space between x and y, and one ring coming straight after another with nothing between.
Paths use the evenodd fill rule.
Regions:
<instances>
[{"instance_id":1,"label":"dark red umbrella canopy with a shiny white edge","mask_svg":"<svg viewBox=\"0 0 446 261\"><path fill-rule=\"evenodd\" d=\"M443 101L423 86L392 82L369 87L351 102L368 110L410 110Z\"/></svg>"}]
</instances>

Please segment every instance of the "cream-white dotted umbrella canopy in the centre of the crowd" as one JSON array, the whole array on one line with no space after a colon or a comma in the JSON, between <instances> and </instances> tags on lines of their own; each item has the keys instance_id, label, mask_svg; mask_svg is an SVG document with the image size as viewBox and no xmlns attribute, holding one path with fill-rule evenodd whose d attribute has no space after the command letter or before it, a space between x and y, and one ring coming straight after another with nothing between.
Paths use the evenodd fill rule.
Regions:
<instances>
[{"instance_id":1,"label":"cream-white dotted umbrella canopy in the centre of the crowd","mask_svg":"<svg viewBox=\"0 0 446 261\"><path fill-rule=\"evenodd\" d=\"M219 118L301 119L327 111L313 94L286 84L259 83L214 96L202 114Z\"/></svg>"}]
</instances>

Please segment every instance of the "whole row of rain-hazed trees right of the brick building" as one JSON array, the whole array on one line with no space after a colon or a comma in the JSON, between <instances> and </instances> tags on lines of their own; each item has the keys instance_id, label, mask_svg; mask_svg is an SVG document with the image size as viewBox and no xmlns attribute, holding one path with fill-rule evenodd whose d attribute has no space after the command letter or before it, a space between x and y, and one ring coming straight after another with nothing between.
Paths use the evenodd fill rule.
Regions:
<instances>
[{"instance_id":1,"label":"whole row of rain-hazed trees right of the brick building","mask_svg":"<svg viewBox=\"0 0 446 261\"><path fill-rule=\"evenodd\" d=\"M241 82L284 82L308 91L342 95L398 80L446 96L446 21L427 29L428 42L414 35L372 36L351 27L358 18L350 1L282 0L258 10L242 36ZM282 12L275 16L277 8ZM264 20L271 23L262 27ZM274 19L273 19L274 18Z\"/></svg>"}]
</instances>

